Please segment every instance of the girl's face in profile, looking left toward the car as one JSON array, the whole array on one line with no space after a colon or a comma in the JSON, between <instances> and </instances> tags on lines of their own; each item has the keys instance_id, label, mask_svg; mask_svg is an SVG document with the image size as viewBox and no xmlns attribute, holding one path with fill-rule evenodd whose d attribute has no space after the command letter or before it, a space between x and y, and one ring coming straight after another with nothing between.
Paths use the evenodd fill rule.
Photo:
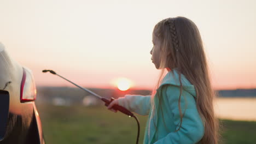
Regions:
<instances>
[{"instance_id":1,"label":"girl's face in profile, looking left toward the car","mask_svg":"<svg viewBox=\"0 0 256 144\"><path fill-rule=\"evenodd\" d=\"M160 41L155 37L155 34L153 32L152 34L152 43L153 43L153 48L150 51L150 54L152 55L151 60L155 64L155 68L159 69L160 67L160 54L161 54L161 49L160 49Z\"/></svg>"}]
</instances>

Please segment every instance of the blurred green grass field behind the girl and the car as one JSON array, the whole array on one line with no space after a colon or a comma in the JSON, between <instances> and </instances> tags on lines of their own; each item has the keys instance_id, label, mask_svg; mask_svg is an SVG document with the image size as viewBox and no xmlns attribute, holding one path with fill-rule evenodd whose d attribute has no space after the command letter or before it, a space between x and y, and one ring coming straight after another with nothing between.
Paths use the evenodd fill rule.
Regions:
<instances>
[{"instance_id":1,"label":"blurred green grass field behind the girl and the car","mask_svg":"<svg viewBox=\"0 0 256 144\"><path fill-rule=\"evenodd\" d=\"M135 143L137 123L106 106L37 105L46 143ZM142 143L147 116L136 115ZM220 120L223 143L256 143L256 122Z\"/></svg>"}]
</instances>

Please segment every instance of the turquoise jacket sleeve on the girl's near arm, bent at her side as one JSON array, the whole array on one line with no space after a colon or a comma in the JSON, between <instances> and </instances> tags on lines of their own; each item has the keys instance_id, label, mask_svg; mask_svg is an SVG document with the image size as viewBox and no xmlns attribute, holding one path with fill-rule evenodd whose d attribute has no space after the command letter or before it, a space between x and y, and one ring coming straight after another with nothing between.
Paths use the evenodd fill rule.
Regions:
<instances>
[{"instance_id":1,"label":"turquoise jacket sleeve on the girl's near arm, bent at her side","mask_svg":"<svg viewBox=\"0 0 256 144\"><path fill-rule=\"evenodd\" d=\"M173 123L176 125L176 130L179 128L179 122L181 121L179 115L178 101L180 94L180 87L166 85L165 86L166 96L168 98L169 108L173 115ZM204 134L204 127L202 119L196 108L196 101L193 95L187 91L182 91L181 95L181 110L185 112L181 128L174 132L168 133L162 139L156 141L154 144L163 143L197 143L199 142Z\"/></svg>"}]
</instances>

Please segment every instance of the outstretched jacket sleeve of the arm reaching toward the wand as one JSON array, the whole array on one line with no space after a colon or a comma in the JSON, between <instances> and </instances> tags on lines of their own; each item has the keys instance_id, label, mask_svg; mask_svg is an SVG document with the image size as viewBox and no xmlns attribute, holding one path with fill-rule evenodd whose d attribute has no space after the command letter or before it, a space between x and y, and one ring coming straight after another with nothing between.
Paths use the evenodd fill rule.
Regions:
<instances>
[{"instance_id":1,"label":"outstretched jacket sleeve of the arm reaching toward the wand","mask_svg":"<svg viewBox=\"0 0 256 144\"><path fill-rule=\"evenodd\" d=\"M146 116L150 111L150 95L129 95L118 98L118 104L138 115Z\"/></svg>"}]
</instances>

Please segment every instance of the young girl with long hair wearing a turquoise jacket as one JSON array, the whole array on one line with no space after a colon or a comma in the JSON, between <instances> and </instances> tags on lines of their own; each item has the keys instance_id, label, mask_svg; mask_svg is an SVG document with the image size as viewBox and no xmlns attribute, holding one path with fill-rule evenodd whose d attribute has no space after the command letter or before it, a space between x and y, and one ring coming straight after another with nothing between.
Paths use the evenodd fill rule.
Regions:
<instances>
[{"instance_id":1,"label":"young girl with long hair wearing a turquoise jacket","mask_svg":"<svg viewBox=\"0 0 256 144\"><path fill-rule=\"evenodd\" d=\"M152 40L152 62L162 69L156 90L147 96L126 94L112 101L108 109L118 104L149 115L145 144L218 143L213 110L216 94L195 23L181 16L164 19L155 25Z\"/></svg>"}]
</instances>

